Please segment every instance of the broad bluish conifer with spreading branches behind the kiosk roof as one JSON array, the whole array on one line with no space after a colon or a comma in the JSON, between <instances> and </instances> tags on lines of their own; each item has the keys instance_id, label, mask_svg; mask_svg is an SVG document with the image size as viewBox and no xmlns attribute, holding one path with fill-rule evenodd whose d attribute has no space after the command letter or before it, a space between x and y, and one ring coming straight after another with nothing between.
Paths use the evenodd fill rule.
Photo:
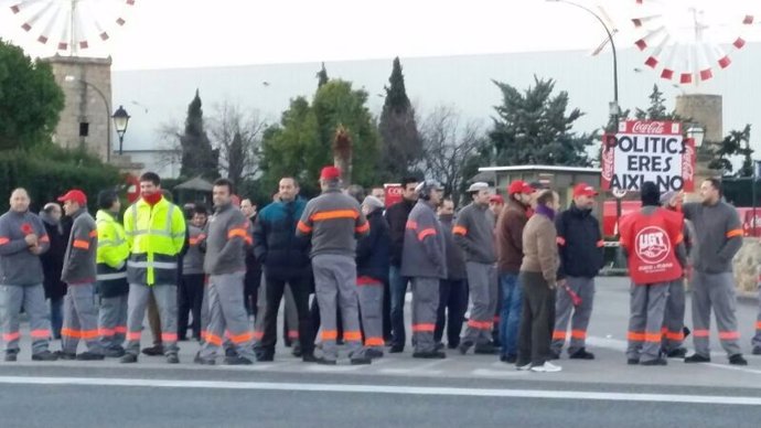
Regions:
<instances>
[{"instance_id":1,"label":"broad bluish conifer with spreading branches behind the kiosk roof","mask_svg":"<svg viewBox=\"0 0 761 428\"><path fill-rule=\"evenodd\" d=\"M504 165L588 167L587 147L593 135L571 132L583 114L572 109L567 116L568 93L553 96L555 81L534 77L534 87L523 94L513 86L494 81L502 92L502 105L494 109L494 128L489 138L496 162Z\"/></svg>"}]
</instances>

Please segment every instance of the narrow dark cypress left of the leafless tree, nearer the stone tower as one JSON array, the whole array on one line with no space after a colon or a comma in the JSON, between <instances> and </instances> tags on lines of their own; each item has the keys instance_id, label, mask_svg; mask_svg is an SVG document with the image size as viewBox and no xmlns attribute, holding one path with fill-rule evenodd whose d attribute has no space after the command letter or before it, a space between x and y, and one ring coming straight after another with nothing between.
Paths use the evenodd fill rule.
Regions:
<instances>
[{"instance_id":1,"label":"narrow dark cypress left of the leafless tree, nearer the stone tower","mask_svg":"<svg viewBox=\"0 0 761 428\"><path fill-rule=\"evenodd\" d=\"M203 109L199 90L187 106L185 130L180 137L182 163L180 175L184 178L202 176L207 180L219 178L219 151L212 148L204 130Z\"/></svg>"}]
</instances>

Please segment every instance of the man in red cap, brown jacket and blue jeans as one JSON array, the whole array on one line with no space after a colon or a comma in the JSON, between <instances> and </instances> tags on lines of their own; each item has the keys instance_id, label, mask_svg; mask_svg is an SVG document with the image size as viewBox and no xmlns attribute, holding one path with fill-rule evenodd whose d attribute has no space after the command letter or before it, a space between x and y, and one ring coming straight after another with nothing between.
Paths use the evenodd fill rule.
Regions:
<instances>
[{"instance_id":1,"label":"man in red cap, brown jacket and blue jeans","mask_svg":"<svg viewBox=\"0 0 761 428\"><path fill-rule=\"evenodd\" d=\"M496 258L502 289L500 361L515 364L523 306L523 286L518 281L523 261L523 228L528 222L534 188L523 180L515 180L510 183L507 194L507 204L496 221Z\"/></svg>"}]
</instances>

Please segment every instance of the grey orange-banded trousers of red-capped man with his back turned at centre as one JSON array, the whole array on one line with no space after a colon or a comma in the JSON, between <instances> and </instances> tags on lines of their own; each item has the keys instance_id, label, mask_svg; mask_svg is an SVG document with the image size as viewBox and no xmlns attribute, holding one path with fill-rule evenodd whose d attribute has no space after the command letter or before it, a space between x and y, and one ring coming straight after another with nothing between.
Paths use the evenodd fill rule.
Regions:
<instances>
[{"instance_id":1,"label":"grey orange-banded trousers of red-capped man with his back turned at centre","mask_svg":"<svg viewBox=\"0 0 761 428\"><path fill-rule=\"evenodd\" d=\"M320 308L322 323L323 359L335 361L339 350L335 340L339 336L336 327L336 303L343 320L343 339L350 357L362 357L362 332L357 313L356 264L353 257L323 254L312 257L314 271L314 293Z\"/></svg>"}]
</instances>

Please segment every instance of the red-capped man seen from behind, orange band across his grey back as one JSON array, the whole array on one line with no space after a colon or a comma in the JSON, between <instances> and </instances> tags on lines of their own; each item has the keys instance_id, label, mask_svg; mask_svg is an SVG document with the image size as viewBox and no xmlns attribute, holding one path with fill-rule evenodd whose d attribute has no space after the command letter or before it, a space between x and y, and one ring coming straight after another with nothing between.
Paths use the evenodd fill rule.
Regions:
<instances>
[{"instance_id":1,"label":"red-capped man seen from behind, orange band across his grey back","mask_svg":"<svg viewBox=\"0 0 761 428\"><path fill-rule=\"evenodd\" d=\"M335 303L341 308L343 339L352 364L369 364L362 350L356 293L356 239L368 235L369 223L356 200L341 193L341 171L325 167L320 174L322 194L307 203L296 234L311 236L314 293L322 321L320 364L334 365L339 356Z\"/></svg>"}]
</instances>

